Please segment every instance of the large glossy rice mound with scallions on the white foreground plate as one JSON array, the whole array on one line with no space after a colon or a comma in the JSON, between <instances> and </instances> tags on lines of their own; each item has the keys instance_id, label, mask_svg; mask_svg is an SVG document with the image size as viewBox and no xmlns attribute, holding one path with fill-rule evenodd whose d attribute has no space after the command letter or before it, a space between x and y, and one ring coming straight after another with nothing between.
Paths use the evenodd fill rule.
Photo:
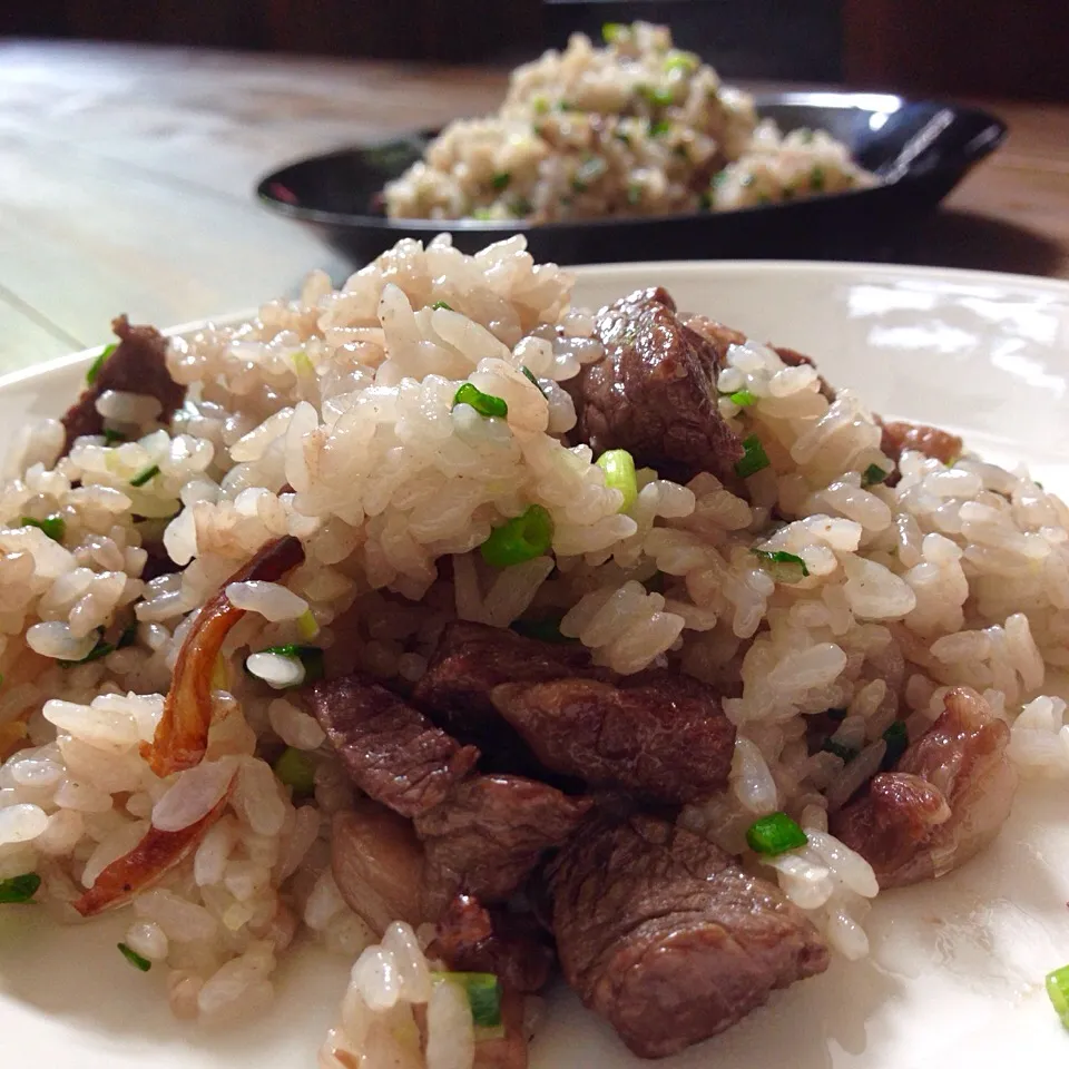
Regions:
<instances>
[{"instance_id":1,"label":"large glossy rice mound with scallions on the white foreground plate","mask_svg":"<svg viewBox=\"0 0 1069 1069\"><path fill-rule=\"evenodd\" d=\"M893 465L863 401L830 401L814 367L748 342L730 347L717 386L722 414L771 461L746 480L749 500L707 473L680 486L643 470L621 511L590 449L560 438L576 422L560 384L602 353L571 286L519 236L475 256L444 236L403 241L340 290L315 274L296 301L174 340L168 365L188 395L170 426L145 398L105 394L126 442L81 438L57 460L57 421L20 442L0 491L0 880L38 873L38 900L72 920L70 903L150 824L188 827L224 805L130 911L126 943L165 967L179 1017L267 1003L298 931L373 959L354 969L350 1021L366 1023L375 1002L374 960L425 967L425 940L398 930L375 945L334 883L330 821L353 790L286 693L301 681L292 661L266 654L244 670L266 647L314 640L328 673L415 680L449 620L504 627L556 611L599 664L670 665L734 695L730 790L680 820L748 864L757 815L798 820L807 845L764 871L851 959L866 952L876 882L827 834L827 814L880 766L892 722L916 738L965 684L1012 723L1023 772L1069 773L1066 705L1042 694L1069 660L1062 501L1026 470L969 454L948 467L908 452L895 486L871 483L872 465ZM507 418L454 406L464 382L504 399ZM158 473L131 486L147 468ZM553 520L551 555L490 568L477 548L531 504ZM23 522L51 516L61 541ZM160 779L139 744L183 638L283 534L306 561L285 586L229 591L248 611L223 650L206 759ZM159 539L183 570L145 581ZM755 550L800 558L806 573L785 580ZM127 618L136 627L101 649L102 629ZM843 710L834 739L860 752L849 765L808 753L806 717L828 709ZM284 746L310 755L312 797L272 771ZM452 1027L454 1010L435 1013ZM343 1020L324 1063L351 1063L331 1061L345 1036Z\"/></svg>"}]
</instances>

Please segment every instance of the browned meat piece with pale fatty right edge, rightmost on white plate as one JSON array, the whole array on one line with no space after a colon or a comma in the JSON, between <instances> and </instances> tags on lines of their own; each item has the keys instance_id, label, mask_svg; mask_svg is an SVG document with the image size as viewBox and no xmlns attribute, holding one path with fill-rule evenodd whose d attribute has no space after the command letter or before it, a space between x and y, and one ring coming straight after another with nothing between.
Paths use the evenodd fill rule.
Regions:
<instances>
[{"instance_id":1,"label":"browned meat piece with pale fatty right edge, rightmost on white plate","mask_svg":"<svg viewBox=\"0 0 1069 1069\"><path fill-rule=\"evenodd\" d=\"M832 820L832 834L873 867L881 887L941 876L982 850L1006 822L1017 773L1010 729L968 687L945 698L940 718L892 773Z\"/></svg>"}]
</instances>

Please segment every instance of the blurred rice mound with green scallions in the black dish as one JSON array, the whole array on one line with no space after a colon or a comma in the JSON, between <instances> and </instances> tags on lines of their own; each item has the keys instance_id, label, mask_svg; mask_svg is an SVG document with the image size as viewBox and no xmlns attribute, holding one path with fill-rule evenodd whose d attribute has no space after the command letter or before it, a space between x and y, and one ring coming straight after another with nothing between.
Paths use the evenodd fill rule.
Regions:
<instances>
[{"instance_id":1,"label":"blurred rice mound with green scallions in the black dish","mask_svg":"<svg viewBox=\"0 0 1069 1069\"><path fill-rule=\"evenodd\" d=\"M531 223L752 207L871 185L823 130L782 134L666 27L572 35L496 115L451 122L383 190L393 218Z\"/></svg>"}]
</instances>

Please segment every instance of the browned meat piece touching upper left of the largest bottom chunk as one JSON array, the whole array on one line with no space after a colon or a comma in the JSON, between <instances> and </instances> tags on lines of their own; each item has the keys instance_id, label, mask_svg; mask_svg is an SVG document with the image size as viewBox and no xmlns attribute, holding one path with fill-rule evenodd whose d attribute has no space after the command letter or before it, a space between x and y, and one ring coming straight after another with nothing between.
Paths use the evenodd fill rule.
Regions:
<instances>
[{"instance_id":1,"label":"browned meat piece touching upper left of the largest bottom chunk","mask_svg":"<svg viewBox=\"0 0 1069 1069\"><path fill-rule=\"evenodd\" d=\"M509 899L542 854L575 832L590 805L521 776L462 783L415 821L426 852L426 915L438 916L458 891L489 904Z\"/></svg>"}]
</instances>

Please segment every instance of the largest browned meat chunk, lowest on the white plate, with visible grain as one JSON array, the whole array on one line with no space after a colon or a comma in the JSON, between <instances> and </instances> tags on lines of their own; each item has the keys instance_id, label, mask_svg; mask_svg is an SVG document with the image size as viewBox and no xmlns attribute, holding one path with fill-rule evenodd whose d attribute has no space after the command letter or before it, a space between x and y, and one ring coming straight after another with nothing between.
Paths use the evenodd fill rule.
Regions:
<instances>
[{"instance_id":1,"label":"largest browned meat chunk, lowest on the white plate, with visible grain","mask_svg":"<svg viewBox=\"0 0 1069 1069\"><path fill-rule=\"evenodd\" d=\"M724 1031L827 968L827 948L772 884L648 816L596 824L549 871L565 977L643 1058Z\"/></svg>"}]
</instances>

